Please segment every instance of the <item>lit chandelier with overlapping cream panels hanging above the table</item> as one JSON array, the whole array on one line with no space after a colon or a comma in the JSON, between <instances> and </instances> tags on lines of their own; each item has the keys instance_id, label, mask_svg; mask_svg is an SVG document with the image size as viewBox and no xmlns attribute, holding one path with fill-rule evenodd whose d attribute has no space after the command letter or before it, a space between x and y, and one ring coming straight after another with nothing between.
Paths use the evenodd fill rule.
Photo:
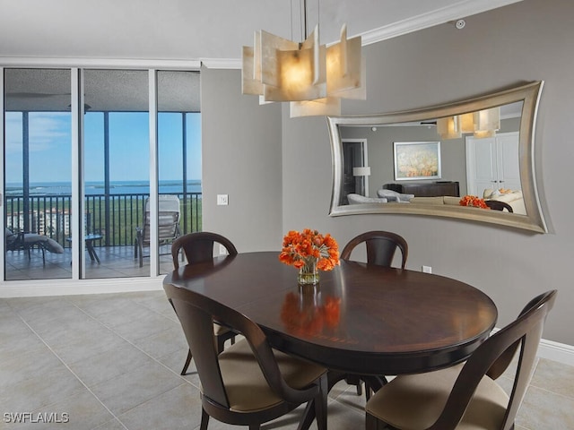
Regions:
<instances>
[{"instance_id":1,"label":"lit chandelier with overlapping cream panels hanging above the table","mask_svg":"<svg viewBox=\"0 0 574 430\"><path fill-rule=\"evenodd\" d=\"M321 45L318 24L307 36L307 0L303 12L302 42L259 30L254 46L243 47L242 93L260 104L289 101L291 117L339 116L341 99L367 98L361 36L347 39L344 24L338 42Z\"/></svg>"}]
</instances>

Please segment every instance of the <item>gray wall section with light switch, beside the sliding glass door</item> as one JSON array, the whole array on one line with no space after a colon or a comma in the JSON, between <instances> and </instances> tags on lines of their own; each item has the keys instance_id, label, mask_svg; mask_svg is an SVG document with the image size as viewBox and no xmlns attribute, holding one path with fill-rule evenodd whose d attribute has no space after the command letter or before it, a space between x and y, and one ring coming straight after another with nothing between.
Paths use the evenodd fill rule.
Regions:
<instances>
[{"instance_id":1,"label":"gray wall section with light switch, beside the sliding glass door","mask_svg":"<svg viewBox=\"0 0 574 430\"><path fill-rule=\"evenodd\" d=\"M241 96L237 71L203 69L203 228L239 252L277 249L282 237L281 106ZM229 205L217 206L217 194Z\"/></svg>"}]
</instances>

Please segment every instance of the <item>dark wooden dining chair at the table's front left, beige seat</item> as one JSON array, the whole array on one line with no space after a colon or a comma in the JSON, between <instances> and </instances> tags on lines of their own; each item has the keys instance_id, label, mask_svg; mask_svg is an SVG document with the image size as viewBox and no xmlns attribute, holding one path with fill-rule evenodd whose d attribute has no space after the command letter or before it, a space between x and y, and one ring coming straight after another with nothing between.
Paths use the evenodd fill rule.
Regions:
<instances>
[{"instance_id":1,"label":"dark wooden dining chair at the table's front left, beige seat","mask_svg":"<svg viewBox=\"0 0 574 430\"><path fill-rule=\"evenodd\" d=\"M195 291L163 287L178 314L201 383L201 430L209 418L259 429L303 403L313 407L318 430L326 430L326 368L274 350L247 316ZM213 323L243 335L219 353Z\"/></svg>"}]
</instances>

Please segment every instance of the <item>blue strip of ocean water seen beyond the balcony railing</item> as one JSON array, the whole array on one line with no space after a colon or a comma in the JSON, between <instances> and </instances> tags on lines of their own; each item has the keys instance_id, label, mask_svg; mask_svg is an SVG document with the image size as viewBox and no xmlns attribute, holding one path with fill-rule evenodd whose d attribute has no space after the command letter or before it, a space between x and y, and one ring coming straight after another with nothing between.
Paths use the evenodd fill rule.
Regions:
<instances>
[{"instance_id":1,"label":"blue strip of ocean water seen beyond the balcony railing","mask_svg":"<svg viewBox=\"0 0 574 430\"><path fill-rule=\"evenodd\" d=\"M160 193L183 193L183 183L178 181L160 181ZM188 193L201 193L201 180L187 181ZM5 193L10 195L22 195L22 184L6 184ZM86 182L86 195L104 193L104 184L101 182ZM149 194L150 185L147 181L111 181L109 184L111 194ZM30 183L30 195L70 195L72 185L62 182L39 182Z\"/></svg>"}]
</instances>

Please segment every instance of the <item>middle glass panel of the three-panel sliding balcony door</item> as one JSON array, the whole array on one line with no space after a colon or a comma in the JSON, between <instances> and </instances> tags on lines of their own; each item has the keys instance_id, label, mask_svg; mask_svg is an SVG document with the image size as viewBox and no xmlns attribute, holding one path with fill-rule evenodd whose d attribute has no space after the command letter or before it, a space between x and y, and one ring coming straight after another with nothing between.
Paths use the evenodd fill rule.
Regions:
<instances>
[{"instance_id":1,"label":"middle glass panel of the three-panel sliding balcony door","mask_svg":"<svg viewBox=\"0 0 574 430\"><path fill-rule=\"evenodd\" d=\"M148 72L83 74L85 277L149 276L135 264L135 240L144 228L150 189Z\"/></svg>"}]
</instances>

